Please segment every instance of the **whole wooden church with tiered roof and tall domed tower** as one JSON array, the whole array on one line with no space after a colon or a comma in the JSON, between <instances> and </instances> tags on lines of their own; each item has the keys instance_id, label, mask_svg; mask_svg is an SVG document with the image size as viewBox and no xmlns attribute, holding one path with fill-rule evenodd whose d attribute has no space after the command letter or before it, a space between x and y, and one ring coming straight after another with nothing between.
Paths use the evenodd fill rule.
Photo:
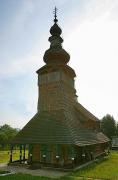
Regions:
<instances>
[{"instance_id":1,"label":"whole wooden church with tiered roof and tall domed tower","mask_svg":"<svg viewBox=\"0 0 118 180\"><path fill-rule=\"evenodd\" d=\"M15 146L20 147L20 163L56 168L72 168L105 155L109 146L100 120L77 100L76 74L68 65L70 55L62 47L61 33L55 9L50 48L43 57L45 65L37 71L38 110L13 139L10 163Z\"/></svg>"}]
</instances>

